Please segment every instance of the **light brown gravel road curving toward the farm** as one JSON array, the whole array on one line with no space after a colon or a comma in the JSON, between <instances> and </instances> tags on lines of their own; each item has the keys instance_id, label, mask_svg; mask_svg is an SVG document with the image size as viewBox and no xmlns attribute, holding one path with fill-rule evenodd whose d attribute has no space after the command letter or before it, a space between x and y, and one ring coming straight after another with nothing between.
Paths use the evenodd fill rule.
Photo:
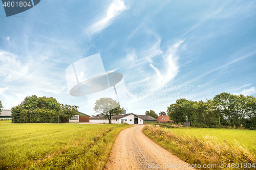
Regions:
<instances>
[{"instance_id":1,"label":"light brown gravel road curving toward the farm","mask_svg":"<svg viewBox=\"0 0 256 170\"><path fill-rule=\"evenodd\" d=\"M187 168L183 160L146 137L142 128L135 125L119 133L104 169L195 169Z\"/></svg>"}]
</instances>

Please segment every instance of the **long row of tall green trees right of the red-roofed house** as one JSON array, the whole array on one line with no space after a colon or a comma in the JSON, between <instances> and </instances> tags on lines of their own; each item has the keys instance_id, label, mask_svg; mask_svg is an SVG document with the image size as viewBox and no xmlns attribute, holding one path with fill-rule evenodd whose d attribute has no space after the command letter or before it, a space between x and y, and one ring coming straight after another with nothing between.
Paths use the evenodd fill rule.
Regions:
<instances>
[{"instance_id":1,"label":"long row of tall green trees right of the red-roofed house","mask_svg":"<svg viewBox=\"0 0 256 170\"><path fill-rule=\"evenodd\" d=\"M178 99L167 114L174 122L190 122L193 127L256 130L256 98L252 95L223 92L206 102Z\"/></svg>"}]
</instances>

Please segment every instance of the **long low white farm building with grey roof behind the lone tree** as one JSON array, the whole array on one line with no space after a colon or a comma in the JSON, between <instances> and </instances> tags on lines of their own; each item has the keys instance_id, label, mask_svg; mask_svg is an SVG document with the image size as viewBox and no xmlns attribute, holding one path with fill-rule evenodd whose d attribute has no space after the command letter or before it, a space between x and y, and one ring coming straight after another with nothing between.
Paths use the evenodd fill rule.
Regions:
<instances>
[{"instance_id":1,"label":"long low white farm building with grey roof behind the lone tree","mask_svg":"<svg viewBox=\"0 0 256 170\"><path fill-rule=\"evenodd\" d=\"M97 115L90 118L91 123L109 123L109 119L105 119L104 115ZM111 117L112 124L147 124L157 123L157 119L150 115L138 115L134 113L127 113L121 115L115 115Z\"/></svg>"}]
</instances>

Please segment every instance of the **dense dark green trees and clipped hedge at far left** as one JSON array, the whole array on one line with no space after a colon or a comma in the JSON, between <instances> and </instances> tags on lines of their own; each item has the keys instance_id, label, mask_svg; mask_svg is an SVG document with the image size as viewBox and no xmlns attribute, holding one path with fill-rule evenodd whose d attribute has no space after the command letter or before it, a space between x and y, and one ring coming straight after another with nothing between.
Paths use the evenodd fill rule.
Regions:
<instances>
[{"instance_id":1,"label":"dense dark green trees and clipped hedge at far left","mask_svg":"<svg viewBox=\"0 0 256 170\"><path fill-rule=\"evenodd\" d=\"M59 104L54 98L27 96L11 108L12 123L59 123L77 114L77 106Z\"/></svg>"}]
</instances>

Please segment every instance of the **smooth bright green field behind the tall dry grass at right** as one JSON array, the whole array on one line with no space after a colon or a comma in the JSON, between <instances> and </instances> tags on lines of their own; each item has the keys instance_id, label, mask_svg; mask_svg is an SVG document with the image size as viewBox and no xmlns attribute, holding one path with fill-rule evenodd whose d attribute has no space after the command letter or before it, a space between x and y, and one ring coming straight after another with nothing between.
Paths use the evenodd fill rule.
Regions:
<instances>
[{"instance_id":1,"label":"smooth bright green field behind the tall dry grass at right","mask_svg":"<svg viewBox=\"0 0 256 170\"><path fill-rule=\"evenodd\" d=\"M210 129L210 128L172 128L172 132L184 134L186 136L195 136L202 138L206 135L216 136L218 139L229 141L230 143L237 140L242 145L244 144L248 150L256 154L256 131L255 130L240 130L240 129Z\"/></svg>"}]
</instances>

